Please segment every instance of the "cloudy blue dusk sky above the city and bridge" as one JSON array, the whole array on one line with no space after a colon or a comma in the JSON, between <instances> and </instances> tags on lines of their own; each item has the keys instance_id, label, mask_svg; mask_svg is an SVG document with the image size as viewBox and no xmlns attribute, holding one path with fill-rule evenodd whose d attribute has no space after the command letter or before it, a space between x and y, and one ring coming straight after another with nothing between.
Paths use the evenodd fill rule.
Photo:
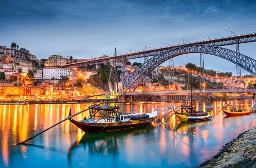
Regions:
<instances>
[{"instance_id":1,"label":"cloudy blue dusk sky above the city and bridge","mask_svg":"<svg viewBox=\"0 0 256 168\"><path fill-rule=\"evenodd\" d=\"M0 45L16 42L38 59L50 55L91 59L130 49L144 50L256 31L255 0L5 0L0 10ZM256 59L256 42L240 52ZM235 45L228 46L235 50ZM133 59L131 62L142 62ZM174 58L199 66L199 54ZM168 63L164 63L167 65ZM205 68L236 72L236 66L205 55ZM242 75L246 74L242 70Z\"/></svg>"}]
</instances>

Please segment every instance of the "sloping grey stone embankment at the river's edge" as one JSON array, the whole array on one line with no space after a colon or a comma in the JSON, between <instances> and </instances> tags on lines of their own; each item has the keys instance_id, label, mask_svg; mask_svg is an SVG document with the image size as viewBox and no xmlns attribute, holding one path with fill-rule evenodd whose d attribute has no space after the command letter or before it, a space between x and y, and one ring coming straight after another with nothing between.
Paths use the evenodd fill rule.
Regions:
<instances>
[{"instance_id":1,"label":"sloping grey stone embankment at the river's edge","mask_svg":"<svg viewBox=\"0 0 256 168\"><path fill-rule=\"evenodd\" d=\"M237 139L226 144L211 160L199 168L255 168L256 167L256 127L240 134Z\"/></svg>"}]
</instances>

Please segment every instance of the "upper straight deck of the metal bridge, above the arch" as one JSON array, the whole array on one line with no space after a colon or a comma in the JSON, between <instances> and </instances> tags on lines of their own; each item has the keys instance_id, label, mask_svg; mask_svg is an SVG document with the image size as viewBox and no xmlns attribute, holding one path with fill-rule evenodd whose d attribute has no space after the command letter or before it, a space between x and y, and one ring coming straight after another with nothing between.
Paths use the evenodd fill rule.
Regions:
<instances>
[{"instance_id":1,"label":"upper straight deck of the metal bridge, above the arch","mask_svg":"<svg viewBox=\"0 0 256 168\"><path fill-rule=\"evenodd\" d=\"M122 61L127 59L137 59L137 58L148 57L148 56L156 56L165 50L169 50L169 49L184 46L184 45L201 44L201 45L224 46L224 45L234 45L234 44L241 44L241 43L248 43L248 42L256 42L256 32L243 34L243 35L214 38L214 39L203 40L198 42L184 43L179 45L171 45L171 46L166 46L162 48L149 49L149 50L138 51L138 52L131 52L131 53L111 56L103 59L93 59L93 60L83 61L79 63L71 63L71 64L64 65L63 67L70 67L70 68L82 67L82 66L90 66L90 65L102 64L102 63L112 63L114 61Z\"/></svg>"}]
</instances>

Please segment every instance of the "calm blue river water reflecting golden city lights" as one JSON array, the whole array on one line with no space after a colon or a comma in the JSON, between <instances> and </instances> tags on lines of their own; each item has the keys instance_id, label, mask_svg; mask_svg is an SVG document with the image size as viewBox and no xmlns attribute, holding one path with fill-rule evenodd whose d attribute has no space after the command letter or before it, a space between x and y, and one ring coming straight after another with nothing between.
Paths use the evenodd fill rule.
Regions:
<instances>
[{"instance_id":1,"label":"calm blue river water reflecting golden city lights","mask_svg":"<svg viewBox=\"0 0 256 168\"><path fill-rule=\"evenodd\" d=\"M248 108L252 101L237 102ZM167 104L120 104L120 112L154 112L158 118L167 112ZM178 106L180 103L175 103ZM222 102L197 102L198 109L213 113ZM65 121L26 145L14 145L58 123L89 104L74 105L0 105L0 168L19 167L191 167L213 157L221 147L240 133L256 126L256 113L226 117L220 112L214 119L200 123L180 123L175 115L164 124L107 133L83 133ZM83 119L88 113L76 116Z\"/></svg>"}]
</instances>

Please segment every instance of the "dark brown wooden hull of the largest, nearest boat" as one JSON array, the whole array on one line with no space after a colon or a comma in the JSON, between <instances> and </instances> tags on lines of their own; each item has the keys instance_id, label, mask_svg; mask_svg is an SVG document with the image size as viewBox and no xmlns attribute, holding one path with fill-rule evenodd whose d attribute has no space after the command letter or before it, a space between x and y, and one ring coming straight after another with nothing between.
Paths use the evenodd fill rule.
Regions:
<instances>
[{"instance_id":1,"label":"dark brown wooden hull of the largest, nearest boat","mask_svg":"<svg viewBox=\"0 0 256 168\"><path fill-rule=\"evenodd\" d=\"M126 122L115 122L115 123L84 123L76 121L74 119L69 119L71 123L75 124L85 133L91 132L104 132L104 131L113 131L113 130L122 130L128 128L134 128L138 126L144 126L152 123L155 120L155 117L148 119L140 119Z\"/></svg>"}]
</instances>

